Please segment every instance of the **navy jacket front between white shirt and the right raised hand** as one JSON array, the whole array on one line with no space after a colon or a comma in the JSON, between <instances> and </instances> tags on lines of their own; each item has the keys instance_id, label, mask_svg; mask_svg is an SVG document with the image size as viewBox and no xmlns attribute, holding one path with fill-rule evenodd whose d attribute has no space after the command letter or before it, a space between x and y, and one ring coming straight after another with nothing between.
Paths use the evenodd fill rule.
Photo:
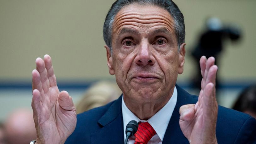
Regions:
<instances>
[{"instance_id":1,"label":"navy jacket front between white shirt and the right raised hand","mask_svg":"<svg viewBox=\"0 0 256 144\"><path fill-rule=\"evenodd\" d=\"M180 88L178 85L176 85L176 88L177 88L177 93L178 93L177 103L176 103L175 109L172 113L172 116L171 116L170 122L168 124L168 127L166 129L166 132L164 134L163 144L189 143L187 138L183 135L181 128L180 128L179 109L184 104L196 103L197 96L190 95L185 90Z\"/></svg>"}]
</instances>

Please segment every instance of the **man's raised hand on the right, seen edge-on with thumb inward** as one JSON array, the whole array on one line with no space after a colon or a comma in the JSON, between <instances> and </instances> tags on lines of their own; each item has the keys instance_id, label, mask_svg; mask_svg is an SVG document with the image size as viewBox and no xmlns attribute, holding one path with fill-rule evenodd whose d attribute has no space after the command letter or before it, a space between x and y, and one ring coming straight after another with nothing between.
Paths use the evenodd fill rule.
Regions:
<instances>
[{"instance_id":1,"label":"man's raised hand on the right, seen edge-on with thumb inward","mask_svg":"<svg viewBox=\"0 0 256 144\"><path fill-rule=\"evenodd\" d=\"M196 104L180 108L180 127L190 143L217 143L216 122L218 104L215 97L215 80L218 67L214 57L200 59L201 91Z\"/></svg>"}]
</instances>

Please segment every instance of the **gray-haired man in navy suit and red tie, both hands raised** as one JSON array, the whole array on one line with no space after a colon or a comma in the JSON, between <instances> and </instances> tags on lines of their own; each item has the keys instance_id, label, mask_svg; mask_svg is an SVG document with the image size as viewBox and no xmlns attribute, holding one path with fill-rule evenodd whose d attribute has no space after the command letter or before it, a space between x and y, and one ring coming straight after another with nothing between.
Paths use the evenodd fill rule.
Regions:
<instances>
[{"instance_id":1,"label":"gray-haired man in navy suit and red tie, both hands raised","mask_svg":"<svg viewBox=\"0 0 256 144\"><path fill-rule=\"evenodd\" d=\"M255 142L255 119L218 107L213 57L200 59L199 97L175 85L186 43L183 15L171 0L116 1L103 36L109 73L122 96L76 117L72 98L58 90L50 56L37 58L31 104L36 143L123 143L130 120L150 125L148 144ZM129 144L138 139L132 136Z\"/></svg>"}]
</instances>

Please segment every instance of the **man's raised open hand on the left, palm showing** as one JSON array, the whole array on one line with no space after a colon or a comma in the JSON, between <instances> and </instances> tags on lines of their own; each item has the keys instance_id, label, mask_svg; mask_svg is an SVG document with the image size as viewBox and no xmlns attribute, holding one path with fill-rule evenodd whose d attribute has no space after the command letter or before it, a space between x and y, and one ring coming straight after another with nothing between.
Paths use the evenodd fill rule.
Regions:
<instances>
[{"instance_id":1,"label":"man's raised open hand on the left, palm showing","mask_svg":"<svg viewBox=\"0 0 256 144\"><path fill-rule=\"evenodd\" d=\"M32 89L36 143L64 143L75 129L75 106L67 91L59 92L49 55L36 59Z\"/></svg>"}]
</instances>

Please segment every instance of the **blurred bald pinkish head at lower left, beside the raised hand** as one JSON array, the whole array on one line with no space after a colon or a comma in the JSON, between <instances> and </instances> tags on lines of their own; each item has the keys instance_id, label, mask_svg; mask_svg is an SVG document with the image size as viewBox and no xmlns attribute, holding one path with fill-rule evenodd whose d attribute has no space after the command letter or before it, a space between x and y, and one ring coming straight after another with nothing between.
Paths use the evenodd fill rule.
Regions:
<instances>
[{"instance_id":1,"label":"blurred bald pinkish head at lower left, beside the raised hand","mask_svg":"<svg viewBox=\"0 0 256 144\"><path fill-rule=\"evenodd\" d=\"M8 144L29 144L36 139L33 113L27 109L18 109L11 113L4 123Z\"/></svg>"}]
</instances>

